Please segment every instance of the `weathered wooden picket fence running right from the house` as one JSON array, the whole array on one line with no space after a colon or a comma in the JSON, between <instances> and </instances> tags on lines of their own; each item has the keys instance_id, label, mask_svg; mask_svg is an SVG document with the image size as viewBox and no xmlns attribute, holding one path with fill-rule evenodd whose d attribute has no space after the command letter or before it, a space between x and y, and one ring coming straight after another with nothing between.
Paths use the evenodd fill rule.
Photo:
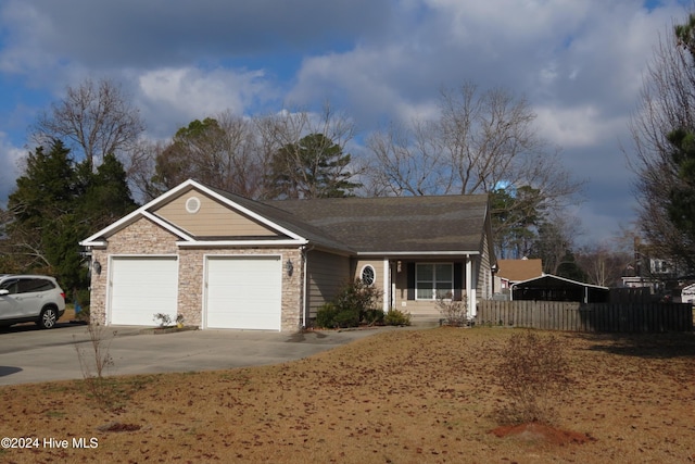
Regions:
<instances>
[{"instance_id":1,"label":"weathered wooden picket fence running right from the house","mask_svg":"<svg viewBox=\"0 0 695 464\"><path fill-rule=\"evenodd\" d=\"M693 306L666 303L494 301L478 305L477 324L571 331L692 331Z\"/></svg>"}]
</instances>

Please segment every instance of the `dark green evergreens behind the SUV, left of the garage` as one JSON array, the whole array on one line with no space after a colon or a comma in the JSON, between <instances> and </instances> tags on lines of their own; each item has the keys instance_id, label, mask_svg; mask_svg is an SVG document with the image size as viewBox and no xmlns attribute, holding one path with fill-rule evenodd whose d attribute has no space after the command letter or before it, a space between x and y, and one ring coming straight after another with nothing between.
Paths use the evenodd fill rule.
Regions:
<instances>
[{"instance_id":1,"label":"dark green evergreens behind the SUV, left of the garage","mask_svg":"<svg viewBox=\"0 0 695 464\"><path fill-rule=\"evenodd\" d=\"M75 163L62 141L26 159L8 201L5 272L55 276L65 289L87 287L79 240L136 208L123 165L113 155L91 172Z\"/></svg>"}]
</instances>

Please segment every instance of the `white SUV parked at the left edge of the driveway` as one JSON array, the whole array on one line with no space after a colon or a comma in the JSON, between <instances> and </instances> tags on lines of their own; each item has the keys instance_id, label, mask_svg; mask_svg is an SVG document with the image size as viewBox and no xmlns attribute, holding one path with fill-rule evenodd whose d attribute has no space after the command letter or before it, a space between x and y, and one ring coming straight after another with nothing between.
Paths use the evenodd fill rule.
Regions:
<instances>
[{"instance_id":1,"label":"white SUV parked at the left edge of the driveway","mask_svg":"<svg viewBox=\"0 0 695 464\"><path fill-rule=\"evenodd\" d=\"M0 326L51 328L64 312L65 292L53 277L0 274Z\"/></svg>"}]
</instances>

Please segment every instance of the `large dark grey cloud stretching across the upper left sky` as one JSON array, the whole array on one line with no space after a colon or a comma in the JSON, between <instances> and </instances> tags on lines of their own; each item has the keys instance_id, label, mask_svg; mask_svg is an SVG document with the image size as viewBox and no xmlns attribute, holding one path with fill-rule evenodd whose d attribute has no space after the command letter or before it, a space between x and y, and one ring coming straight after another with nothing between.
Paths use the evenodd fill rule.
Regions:
<instances>
[{"instance_id":1,"label":"large dark grey cloud stretching across the upper left sky","mask_svg":"<svg viewBox=\"0 0 695 464\"><path fill-rule=\"evenodd\" d=\"M352 39L378 30L389 11L388 0L4 0L0 21L12 51L89 67L163 67Z\"/></svg>"}]
</instances>

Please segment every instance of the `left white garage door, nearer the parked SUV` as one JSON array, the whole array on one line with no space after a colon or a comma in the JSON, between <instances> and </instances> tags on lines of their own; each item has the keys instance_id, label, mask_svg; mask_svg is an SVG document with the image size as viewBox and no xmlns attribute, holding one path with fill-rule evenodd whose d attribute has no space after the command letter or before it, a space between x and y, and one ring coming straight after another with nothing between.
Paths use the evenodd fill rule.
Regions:
<instances>
[{"instance_id":1,"label":"left white garage door, nearer the parked SUV","mask_svg":"<svg viewBox=\"0 0 695 464\"><path fill-rule=\"evenodd\" d=\"M113 258L111 265L111 324L154 326L157 313L176 321L175 256Z\"/></svg>"}]
</instances>

